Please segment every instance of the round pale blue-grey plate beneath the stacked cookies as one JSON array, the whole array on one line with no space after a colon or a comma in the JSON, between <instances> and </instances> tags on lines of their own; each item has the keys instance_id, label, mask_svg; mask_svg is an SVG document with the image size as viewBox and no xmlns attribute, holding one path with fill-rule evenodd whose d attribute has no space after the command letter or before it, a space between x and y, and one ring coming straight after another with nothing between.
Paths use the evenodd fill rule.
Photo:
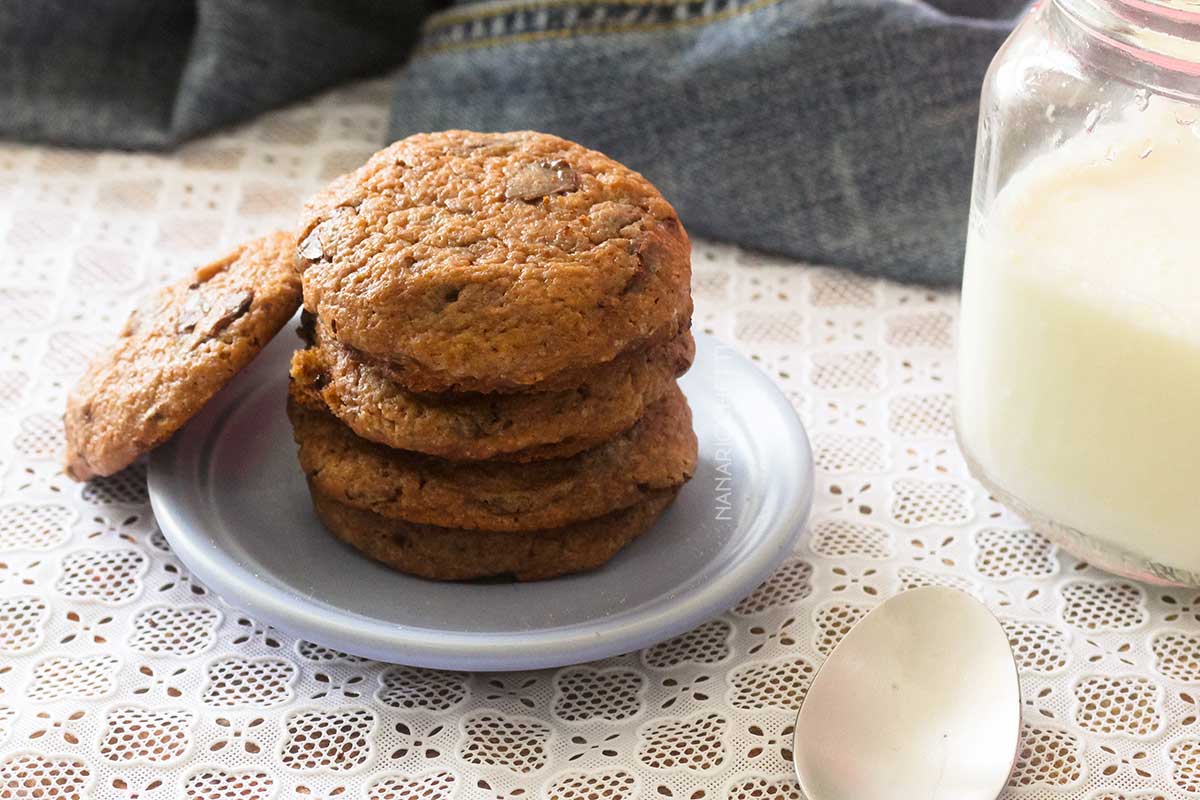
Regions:
<instances>
[{"instance_id":1,"label":"round pale blue-grey plate beneath the stacked cookies","mask_svg":"<svg viewBox=\"0 0 1200 800\"><path fill-rule=\"evenodd\" d=\"M775 385L696 337L680 385L696 475L655 527L599 570L533 583L438 583L394 572L312 512L284 413L280 336L150 457L172 549L228 602L347 652L439 669L534 669L629 652L730 608L791 552L812 503L812 455Z\"/></svg>"}]
</instances>

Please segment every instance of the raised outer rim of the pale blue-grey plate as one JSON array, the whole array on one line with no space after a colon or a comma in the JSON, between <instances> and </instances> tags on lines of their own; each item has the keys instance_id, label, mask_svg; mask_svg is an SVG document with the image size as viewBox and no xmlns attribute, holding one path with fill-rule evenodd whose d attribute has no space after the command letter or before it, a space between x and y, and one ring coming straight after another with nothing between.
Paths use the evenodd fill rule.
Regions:
<instances>
[{"instance_id":1,"label":"raised outer rim of the pale blue-grey plate","mask_svg":"<svg viewBox=\"0 0 1200 800\"><path fill-rule=\"evenodd\" d=\"M652 601L649 607L630 614L595 616L518 633L474 633L410 627L365 618L353 609L322 603L317 595L305 595L295 587L286 587L284 593L258 578L252 569L234 560L206 536L186 531L187 525L180 519L181 511L176 510L176 500L173 499L172 479L178 476L173 475L172 464L188 426L150 455L150 505L173 553L224 602L281 631L352 655L434 669L508 672L562 667L634 652L691 630L728 610L751 593L792 553L812 506L812 451L796 409L775 383L737 349L706 333L697 332L696 339L697 350L725 351L724 356L732 354L744 362L754 375L754 390L762 391L774 407L786 411L781 417L787 421L788 431L772 431L770 435L775 441L786 439L794 445L788 449L788 461L802 480L799 486L792 485L794 491L776 492L780 497L774 505L779 507L760 509L760 516L751 527L769 525L770 530L761 534L758 539L763 541L738 563L722 570L710 582L683 594L668 591ZM217 411L217 416L224 416L235 408L234 398L242 398L246 393L244 390L227 395L223 401L218 395L214 404L221 405L212 410ZM772 513L762 513L766 511ZM522 584L514 585L520 589Z\"/></svg>"}]
</instances>

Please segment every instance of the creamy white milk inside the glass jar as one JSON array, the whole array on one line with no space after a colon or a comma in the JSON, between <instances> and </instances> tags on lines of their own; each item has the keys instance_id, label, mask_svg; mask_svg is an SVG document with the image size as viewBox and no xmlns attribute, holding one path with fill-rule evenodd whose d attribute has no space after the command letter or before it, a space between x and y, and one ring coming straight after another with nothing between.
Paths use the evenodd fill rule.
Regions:
<instances>
[{"instance_id":1,"label":"creamy white milk inside the glass jar","mask_svg":"<svg viewBox=\"0 0 1200 800\"><path fill-rule=\"evenodd\" d=\"M973 216L958 431L978 476L1036 528L1190 582L1200 122L1147 106L1030 160Z\"/></svg>"}]
</instances>

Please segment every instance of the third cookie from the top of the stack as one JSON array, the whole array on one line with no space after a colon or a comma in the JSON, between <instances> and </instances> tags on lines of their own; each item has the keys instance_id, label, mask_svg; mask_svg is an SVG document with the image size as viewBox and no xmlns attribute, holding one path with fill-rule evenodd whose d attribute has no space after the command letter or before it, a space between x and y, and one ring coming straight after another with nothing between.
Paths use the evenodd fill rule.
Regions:
<instances>
[{"instance_id":1,"label":"third cookie from the top of the stack","mask_svg":"<svg viewBox=\"0 0 1200 800\"><path fill-rule=\"evenodd\" d=\"M680 486L696 467L691 411L678 387L632 428L570 458L523 464L450 462L365 439L294 397L300 465L322 494L395 519L523 531L606 515Z\"/></svg>"}]
</instances>

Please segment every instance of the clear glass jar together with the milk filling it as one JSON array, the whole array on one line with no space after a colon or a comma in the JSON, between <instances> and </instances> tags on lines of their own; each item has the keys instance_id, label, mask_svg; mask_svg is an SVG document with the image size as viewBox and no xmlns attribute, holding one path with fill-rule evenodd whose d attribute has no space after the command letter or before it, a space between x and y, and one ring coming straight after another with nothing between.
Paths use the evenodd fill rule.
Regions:
<instances>
[{"instance_id":1,"label":"clear glass jar together with the milk filling it","mask_svg":"<svg viewBox=\"0 0 1200 800\"><path fill-rule=\"evenodd\" d=\"M1200 584L1200 4L1040 0L983 90L972 473L1096 566Z\"/></svg>"}]
</instances>

